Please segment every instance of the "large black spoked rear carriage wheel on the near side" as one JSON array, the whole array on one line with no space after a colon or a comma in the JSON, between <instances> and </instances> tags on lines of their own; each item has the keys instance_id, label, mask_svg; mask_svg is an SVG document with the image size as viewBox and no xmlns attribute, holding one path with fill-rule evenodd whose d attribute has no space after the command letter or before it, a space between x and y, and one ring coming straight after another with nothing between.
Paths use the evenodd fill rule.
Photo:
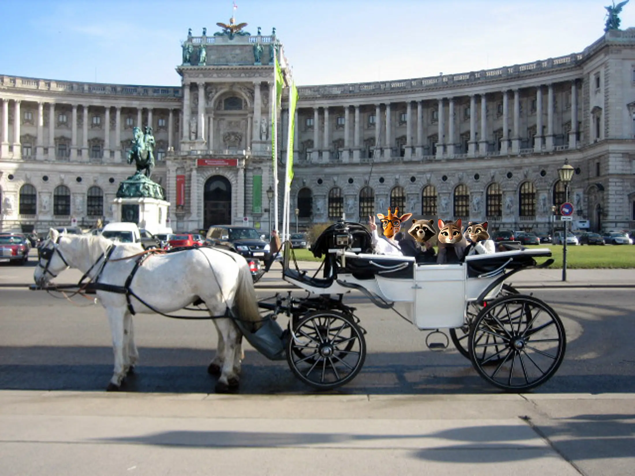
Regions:
<instances>
[{"instance_id":1,"label":"large black spoked rear carriage wheel on the near side","mask_svg":"<svg viewBox=\"0 0 635 476\"><path fill-rule=\"evenodd\" d=\"M533 296L504 296L483 308L472 324L472 365L503 390L523 392L556 373L565 357L565 327L558 314ZM493 360L497 364L488 365Z\"/></svg>"}]
</instances>

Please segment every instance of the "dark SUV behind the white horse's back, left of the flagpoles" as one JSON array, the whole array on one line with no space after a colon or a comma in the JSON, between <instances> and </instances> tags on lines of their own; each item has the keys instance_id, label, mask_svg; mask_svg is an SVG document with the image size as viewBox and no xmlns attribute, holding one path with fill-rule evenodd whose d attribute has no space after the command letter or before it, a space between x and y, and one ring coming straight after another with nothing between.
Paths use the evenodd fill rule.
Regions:
<instances>
[{"instance_id":1,"label":"dark SUV behind the white horse's back, left of the flagpoles","mask_svg":"<svg viewBox=\"0 0 635 476\"><path fill-rule=\"evenodd\" d=\"M229 249L239 255L243 255L251 266L251 274L259 275L261 270L260 261L269 261L269 243L260 238L256 228L240 227L234 225L214 225L207 232L206 244Z\"/></svg>"}]
</instances>

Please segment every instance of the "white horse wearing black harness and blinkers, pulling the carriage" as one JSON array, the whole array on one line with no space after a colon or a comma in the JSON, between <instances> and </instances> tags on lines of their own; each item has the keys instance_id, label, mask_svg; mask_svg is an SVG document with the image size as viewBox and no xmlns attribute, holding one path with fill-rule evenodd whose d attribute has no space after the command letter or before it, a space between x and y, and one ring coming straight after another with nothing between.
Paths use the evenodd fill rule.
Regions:
<instances>
[{"instance_id":1,"label":"white horse wearing black harness and blinkers, pulling the carriage","mask_svg":"<svg viewBox=\"0 0 635 476\"><path fill-rule=\"evenodd\" d=\"M111 246L114 243L102 236L60 235L51 228L34 272L36 284L44 286L70 267L91 280L98 277L102 284L123 289L144 249L139 244L117 243L105 258ZM249 267L243 256L235 253L197 248L147 256L134 272L129 289L149 307L163 313L180 310L200 298L211 316L227 315L229 309L236 319L250 322L248 326L252 327L257 327L261 319ZM126 294L98 290L97 297L108 315L115 360L107 390L119 390L138 360L132 314ZM154 312L140 300L130 296L135 313ZM243 334L231 318L214 319L214 324L218 347L208 372L220 373L217 392L229 392L239 383Z\"/></svg>"}]
</instances>

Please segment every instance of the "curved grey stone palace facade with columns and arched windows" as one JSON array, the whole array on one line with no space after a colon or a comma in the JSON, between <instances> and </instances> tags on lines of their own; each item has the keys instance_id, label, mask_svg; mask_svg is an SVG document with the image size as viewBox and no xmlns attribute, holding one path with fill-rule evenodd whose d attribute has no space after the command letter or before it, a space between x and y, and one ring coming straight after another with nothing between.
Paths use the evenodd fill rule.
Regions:
<instances>
[{"instance_id":1,"label":"curved grey stone palace facade with columns and arched windows","mask_svg":"<svg viewBox=\"0 0 635 476\"><path fill-rule=\"evenodd\" d=\"M283 45L275 29L224 30L189 34L183 53L180 87L0 76L0 228L112 220L119 182L134 170L132 129L150 125L152 179L166 188L171 227L268 230L274 55L290 81ZM399 206L545 230L566 201L565 159L577 225L635 228L635 29L559 58L299 93L292 229ZM285 108L283 96L281 177Z\"/></svg>"}]
</instances>

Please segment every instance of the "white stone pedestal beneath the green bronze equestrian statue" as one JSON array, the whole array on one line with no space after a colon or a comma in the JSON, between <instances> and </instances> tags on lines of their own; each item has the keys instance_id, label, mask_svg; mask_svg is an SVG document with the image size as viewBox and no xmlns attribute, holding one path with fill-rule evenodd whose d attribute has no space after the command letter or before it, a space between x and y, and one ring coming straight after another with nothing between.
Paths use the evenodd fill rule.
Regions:
<instances>
[{"instance_id":1,"label":"white stone pedestal beneath the green bronze equestrian statue","mask_svg":"<svg viewBox=\"0 0 635 476\"><path fill-rule=\"evenodd\" d=\"M113 221L137 223L152 234L164 232L170 202L154 198L116 198L112 201Z\"/></svg>"}]
</instances>

